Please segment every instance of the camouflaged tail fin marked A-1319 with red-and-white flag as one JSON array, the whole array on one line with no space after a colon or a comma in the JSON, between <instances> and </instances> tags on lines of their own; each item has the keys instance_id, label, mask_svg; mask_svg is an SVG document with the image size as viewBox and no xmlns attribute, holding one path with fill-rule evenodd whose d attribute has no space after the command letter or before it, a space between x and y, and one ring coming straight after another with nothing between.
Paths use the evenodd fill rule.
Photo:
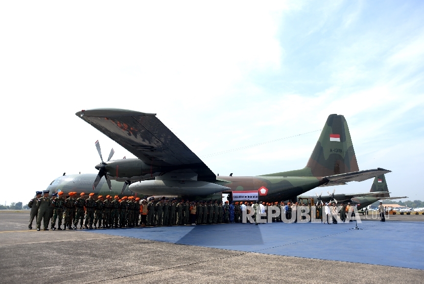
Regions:
<instances>
[{"instance_id":1,"label":"camouflaged tail fin marked A-1319 with red-and-white flag","mask_svg":"<svg viewBox=\"0 0 424 284\"><path fill-rule=\"evenodd\" d=\"M306 165L315 177L358 172L354 145L343 115L330 114Z\"/></svg>"}]
</instances>

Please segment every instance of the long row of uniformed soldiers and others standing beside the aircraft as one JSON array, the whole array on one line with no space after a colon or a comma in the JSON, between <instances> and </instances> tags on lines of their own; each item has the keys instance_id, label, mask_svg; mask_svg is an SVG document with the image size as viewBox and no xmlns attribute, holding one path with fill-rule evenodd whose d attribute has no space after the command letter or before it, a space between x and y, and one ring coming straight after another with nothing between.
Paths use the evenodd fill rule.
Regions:
<instances>
[{"instance_id":1,"label":"long row of uniformed soldiers and others standing beside the aircraft","mask_svg":"<svg viewBox=\"0 0 424 284\"><path fill-rule=\"evenodd\" d=\"M41 194L44 196L41 197ZM34 218L36 218L37 230L41 229L42 220L44 230L49 230L49 223L50 229L62 230L63 219L63 230L77 229L78 223L80 223L80 229L92 229L93 225L97 229L239 223L243 222L244 210L246 210L246 214L249 214L250 210L264 213L268 206L278 207L281 212L280 215L272 218L272 222L282 222L282 215L285 215L286 219L291 219L292 212L297 212L298 206L309 207L309 215L311 214L311 204L305 205L297 202L184 201L177 198L169 200L166 197L161 198L159 201L155 201L151 197L147 201L146 199L140 200L140 198L135 198L134 196L124 196L120 199L117 195L113 198L110 195L105 198L98 196L97 200L95 200L93 193L90 193L88 198L84 198L84 193L81 193L80 197L76 198L76 194L75 192L70 192L66 197L63 197L63 192L59 192L49 198L49 191L36 192L36 197L31 199L28 204L31 208L28 228L32 229ZM339 206L342 221L346 219L346 212L349 210L349 206L350 204L345 206L343 203L341 208ZM331 207L328 204L325 206L318 205L315 209L316 219L321 219L328 224L330 222L333 224L337 223L337 218L334 216L337 214L338 208L335 204ZM297 218L298 216L296 215L294 223L297 222ZM256 214L253 215L253 219L257 224ZM58 221L57 228L56 221Z\"/></svg>"}]
</instances>

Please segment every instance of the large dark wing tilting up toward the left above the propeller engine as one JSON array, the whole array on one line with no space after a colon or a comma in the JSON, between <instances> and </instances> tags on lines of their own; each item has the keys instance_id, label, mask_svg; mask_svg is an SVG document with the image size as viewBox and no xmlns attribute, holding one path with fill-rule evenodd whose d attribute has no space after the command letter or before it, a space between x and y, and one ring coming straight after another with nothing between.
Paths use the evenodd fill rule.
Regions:
<instances>
[{"instance_id":1,"label":"large dark wing tilting up toward the left above the propeller engine","mask_svg":"<svg viewBox=\"0 0 424 284\"><path fill-rule=\"evenodd\" d=\"M155 113L104 108L82 110L76 115L147 164L172 170L191 169L197 173L198 180L216 179Z\"/></svg>"}]
</instances>

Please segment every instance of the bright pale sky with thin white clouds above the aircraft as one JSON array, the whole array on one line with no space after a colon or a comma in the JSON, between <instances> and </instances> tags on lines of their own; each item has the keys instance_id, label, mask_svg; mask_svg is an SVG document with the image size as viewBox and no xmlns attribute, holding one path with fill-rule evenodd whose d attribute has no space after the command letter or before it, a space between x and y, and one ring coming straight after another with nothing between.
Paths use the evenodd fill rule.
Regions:
<instances>
[{"instance_id":1,"label":"bright pale sky with thin white clouds above the aircraft","mask_svg":"<svg viewBox=\"0 0 424 284\"><path fill-rule=\"evenodd\" d=\"M424 200L423 14L422 1L3 1L0 204L97 173L96 140L134 157L75 115L104 107L157 113L234 176L303 168L343 114L359 169L391 170L391 196Z\"/></svg>"}]
</instances>

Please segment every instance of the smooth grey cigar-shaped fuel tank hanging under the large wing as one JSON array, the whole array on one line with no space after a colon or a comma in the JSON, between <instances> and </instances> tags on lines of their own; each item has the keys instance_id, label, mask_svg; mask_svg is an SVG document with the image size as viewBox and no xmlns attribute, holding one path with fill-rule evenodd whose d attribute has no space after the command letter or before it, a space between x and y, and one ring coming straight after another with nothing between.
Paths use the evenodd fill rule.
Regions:
<instances>
[{"instance_id":1,"label":"smooth grey cigar-shaped fuel tank hanging under the large wing","mask_svg":"<svg viewBox=\"0 0 424 284\"><path fill-rule=\"evenodd\" d=\"M143 195L210 195L230 190L229 187L216 183L197 180L144 180L134 182L130 191Z\"/></svg>"}]
</instances>

